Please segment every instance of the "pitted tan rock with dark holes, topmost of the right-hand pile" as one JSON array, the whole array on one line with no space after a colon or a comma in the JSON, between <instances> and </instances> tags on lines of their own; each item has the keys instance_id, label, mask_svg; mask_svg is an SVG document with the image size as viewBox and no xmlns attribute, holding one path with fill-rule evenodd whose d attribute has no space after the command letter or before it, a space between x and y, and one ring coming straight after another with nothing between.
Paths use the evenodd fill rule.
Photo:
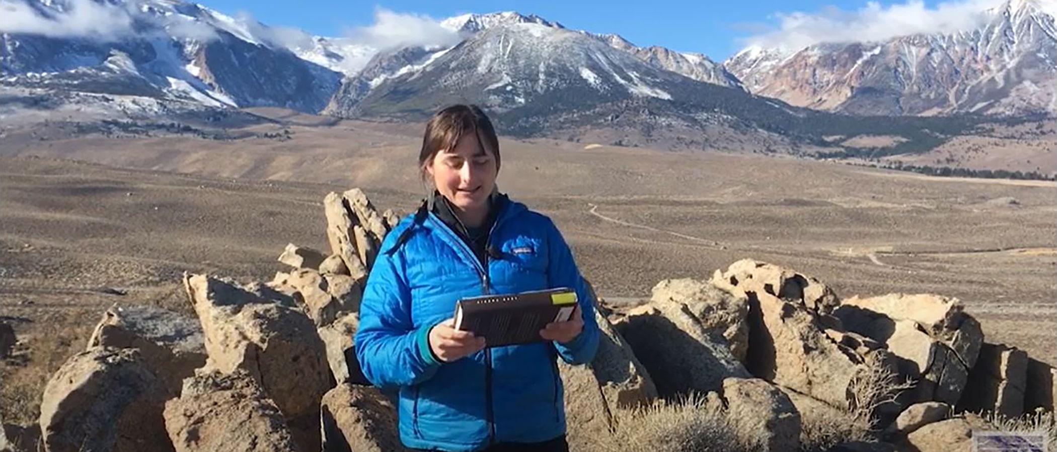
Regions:
<instances>
[{"instance_id":1,"label":"pitted tan rock with dark holes, topmost of the right-hand pile","mask_svg":"<svg viewBox=\"0 0 1057 452\"><path fill-rule=\"evenodd\" d=\"M762 290L779 299L799 303L816 314L830 314L840 305L833 289L819 280L752 259L735 262L726 271L716 270L711 282L727 289Z\"/></svg>"}]
</instances>

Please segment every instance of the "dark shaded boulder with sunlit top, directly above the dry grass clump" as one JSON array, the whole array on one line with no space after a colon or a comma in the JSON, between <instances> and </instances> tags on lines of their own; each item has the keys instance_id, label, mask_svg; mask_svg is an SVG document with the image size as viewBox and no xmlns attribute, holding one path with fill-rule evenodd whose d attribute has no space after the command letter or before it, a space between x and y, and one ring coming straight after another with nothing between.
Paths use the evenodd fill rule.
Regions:
<instances>
[{"instance_id":1,"label":"dark shaded boulder with sunlit top, directly above the dry grass clump","mask_svg":"<svg viewBox=\"0 0 1057 452\"><path fill-rule=\"evenodd\" d=\"M665 398L719 391L727 377L749 374L725 344L713 341L685 304L650 303L615 324Z\"/></svg>"}]
</instances>

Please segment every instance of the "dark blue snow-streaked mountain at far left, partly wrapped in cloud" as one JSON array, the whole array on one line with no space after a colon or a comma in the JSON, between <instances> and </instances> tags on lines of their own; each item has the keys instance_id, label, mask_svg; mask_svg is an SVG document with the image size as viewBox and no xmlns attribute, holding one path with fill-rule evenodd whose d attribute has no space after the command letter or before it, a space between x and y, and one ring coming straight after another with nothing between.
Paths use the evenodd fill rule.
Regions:
<instances>
[{"instance_id":1,"label":"dark blue snow-streaked mountain at far left, partly wrapped in cloud","mask_svg":"<svg viewBox=\"0 0 1057 452\"><path fill-rule=\"evenodd\" d=\"M14 5L61 20L74 14L75 3L20 0ZM314 112L340 86L340 73L310 57L318 52L321 58L339 61L337 52L324 52L327 41L313 42L305 36L302 57L277 42L274 30L198 4L164 0L99 4L96 7L110 8L111 14L127 15L130 26L92 37L0 34L3 88L59 97L134 93L210 108L278 106Z\"/></svg>"}]
</instances>

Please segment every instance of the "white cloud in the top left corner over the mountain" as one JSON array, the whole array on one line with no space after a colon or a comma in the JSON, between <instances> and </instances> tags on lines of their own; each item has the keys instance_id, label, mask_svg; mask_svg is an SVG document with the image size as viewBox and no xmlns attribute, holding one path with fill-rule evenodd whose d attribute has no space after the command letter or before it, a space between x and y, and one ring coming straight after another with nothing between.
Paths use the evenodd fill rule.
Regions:
<instances>
[{"instance_id":1,"label":"white cloud in the top left corner over the mountain","mask_svg":"<svg viewBox=\"0 0 1057 452\"><path fill-rule=\"evenodd\" d=\"M132 12L129 10L92 0L71 0L68 4L64 12L44 13L25 2L0 1L0 32L99 39L132 33Z\"/></svg>"}]
</instances>

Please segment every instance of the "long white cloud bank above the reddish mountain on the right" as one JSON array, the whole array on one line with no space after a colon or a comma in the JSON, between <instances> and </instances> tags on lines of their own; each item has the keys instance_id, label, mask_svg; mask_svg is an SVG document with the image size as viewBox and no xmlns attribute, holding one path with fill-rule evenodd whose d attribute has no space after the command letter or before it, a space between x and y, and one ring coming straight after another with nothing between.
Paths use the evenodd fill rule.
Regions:
<instances>
[{"instance_id":1,"label":"long white cloud bank above the reddish mountain on the right","mask_svg":"<svg viewBox=\"0 0 1057 452\"><path fill-rule=\"evenodd\" d=\"M870 1L855 11L831 6L815 13L776 13L777 27L739 41L795 50L820 42L880 41L920 33L954 33L977 27L985 20L986 10L1001 3L1001 0L953 0L928 6L921 0L890 5Z\"/></svg>"}]
</instances>

